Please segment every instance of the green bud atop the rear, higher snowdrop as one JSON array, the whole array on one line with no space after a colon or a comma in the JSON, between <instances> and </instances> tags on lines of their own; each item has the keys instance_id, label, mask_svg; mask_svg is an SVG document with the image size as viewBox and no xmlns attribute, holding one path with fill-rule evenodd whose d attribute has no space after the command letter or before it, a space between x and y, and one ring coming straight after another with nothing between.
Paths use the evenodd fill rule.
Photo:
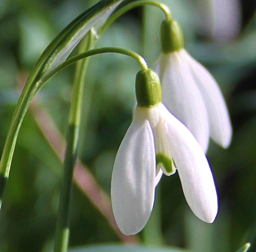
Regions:
<instances>
[{"instance_id":1,"label":"green bud atop the rear, higher snowdrop","mask_svg":"<svg viewBox=\"0 0 256 252\"><path fill-rule=\"evenodd\" d=\"M183 48L183 33L175 19L165 19L160 27L161 48L163 53L179 51Z\"/></svg>"}]
</instances>

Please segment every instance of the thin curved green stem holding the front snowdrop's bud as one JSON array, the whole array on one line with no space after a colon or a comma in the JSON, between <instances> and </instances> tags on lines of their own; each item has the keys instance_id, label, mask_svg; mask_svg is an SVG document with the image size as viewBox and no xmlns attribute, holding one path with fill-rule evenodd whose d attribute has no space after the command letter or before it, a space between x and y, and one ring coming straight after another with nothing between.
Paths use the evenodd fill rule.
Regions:
<instances>
[{"instance_id":1,"label":"thin curved green stem holding the front snowdrop's bud","mask_svg":"<svg viewBox=\"0 0 256 252\"><path fill-rule=\"evenodd\" d=\"M118 48L118 47L102 47L102 48L87 51L85 53L80 53L74 57L67 59L65 62L63 62L61 65L56 67L53 71L51 71L51 73L49 73L48 75L46 75L45 77L41 78L38 81L39 87L38 87L37 91L39 91L40 87L42 85L44 85L47 81L49 81L49 79L51 79L55 74L57 74L59 71L66 68L67 66L73 64L74 62L76 62L80 59L87 58L87 57L90 57L90 56L93 56L96 54L102 54L102 53L119 53L119 54L124 54L124 55L130 56L138 61L138 63L140 64L140 66L143 70L147 69L147 63L146 63L145 59L133 51L126 50L123 48Z\"/></svg>"}]
</instances>

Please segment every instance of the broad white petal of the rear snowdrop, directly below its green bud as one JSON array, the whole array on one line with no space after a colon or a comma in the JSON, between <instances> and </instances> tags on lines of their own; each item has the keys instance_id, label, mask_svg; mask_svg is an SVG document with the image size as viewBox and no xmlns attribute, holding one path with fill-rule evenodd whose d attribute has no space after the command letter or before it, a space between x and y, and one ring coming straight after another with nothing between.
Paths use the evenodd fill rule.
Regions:
<instances>
[{"instance_id":1,"label":"broad white petal of the rear snowdrop, directly below its green bud","mask_svg":"<svg viewBox=\"0 0 256 252\"><path fill-rule=\"evenodd\" d=\"M190 66L182 57L183 50L160 56L162 102L191 131L206 153L210 137L207 110Z\"/></svg>"}]
</instances>

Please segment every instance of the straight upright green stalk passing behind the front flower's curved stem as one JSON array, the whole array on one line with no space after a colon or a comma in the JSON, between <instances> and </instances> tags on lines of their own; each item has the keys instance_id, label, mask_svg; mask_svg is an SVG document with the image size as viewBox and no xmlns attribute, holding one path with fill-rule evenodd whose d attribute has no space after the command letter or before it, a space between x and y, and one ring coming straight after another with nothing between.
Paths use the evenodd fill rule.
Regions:
<instances>
[{"instance_id":1,"label":"straight upright green stalk passing behind the front flower's curved stem","mask_svg":"<svg viewBox=\"0 0 256 252\"><path fill-rule=\"evenodd\" d=\"M81 41L79 53L88 51L93 46L94 36L90 31ZM63 163L62 187L59 197L59 210L54 242L54 252L66 252L69 243L69 215L73 187L73 172L77 160L77 144L81 122L83 89L89 58L76 64L73 93L67 129L67 148Z\"/></svg>"}]
</instances>

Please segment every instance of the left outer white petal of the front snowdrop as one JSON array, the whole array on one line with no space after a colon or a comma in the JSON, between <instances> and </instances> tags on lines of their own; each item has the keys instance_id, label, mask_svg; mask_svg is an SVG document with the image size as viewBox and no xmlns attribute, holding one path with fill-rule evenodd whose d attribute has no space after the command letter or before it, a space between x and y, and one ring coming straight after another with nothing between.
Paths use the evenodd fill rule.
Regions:
<instances>
[{"instance_id":1,"label":"left outer white petal of the front snowdrop","mask_svg":"<svg viewBox=\"0 0 256 252\"><path fill-rule=\"evenodd\" d=\"M113 213L123 234L136 234L146 225L154 191L153 132L149 121L134 119L117 152L111 181Z\"/></svg>"}]
</instances>

